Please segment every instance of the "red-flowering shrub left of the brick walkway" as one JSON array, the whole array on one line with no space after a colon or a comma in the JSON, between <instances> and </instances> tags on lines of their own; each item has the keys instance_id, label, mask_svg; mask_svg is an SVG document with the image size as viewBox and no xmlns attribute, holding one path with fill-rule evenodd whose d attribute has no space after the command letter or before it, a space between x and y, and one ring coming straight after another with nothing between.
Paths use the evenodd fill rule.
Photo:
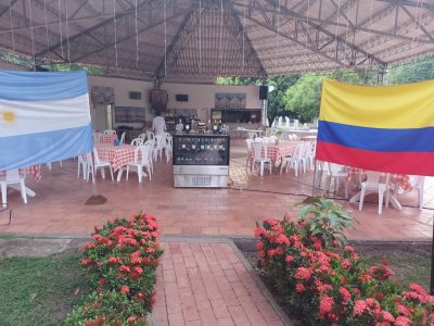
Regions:
<instances>
[{"instance_id":1,"label":"red-flowering shrub left of the brick walkway","mask_svg":"<svg viewBox=\"0 0 434 326\"><path fill-rule=\"evenodd\" d=\"M95 228L81 265L93 292L68 315L66 325L145 325L154 303L155 268L163 254L155 217L141 212Z\"/></svg>"}]
</instances>

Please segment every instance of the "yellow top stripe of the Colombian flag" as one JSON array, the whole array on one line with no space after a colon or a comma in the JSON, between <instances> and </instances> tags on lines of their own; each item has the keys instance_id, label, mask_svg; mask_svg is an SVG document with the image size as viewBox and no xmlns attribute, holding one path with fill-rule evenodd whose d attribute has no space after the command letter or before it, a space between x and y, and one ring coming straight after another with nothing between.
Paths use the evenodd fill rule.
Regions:
<instances>
[{"instance_id":1,"label":"yellow top stripe of the Colombian flag","mask_svg":"<svg viewBox=\"0 0 434 326\"><path fill-rule=\"evenodd\" d=\"M319 118L371 128L434 126L434 80L379 87L324 79Z\"/></svg>"}]
</instances>

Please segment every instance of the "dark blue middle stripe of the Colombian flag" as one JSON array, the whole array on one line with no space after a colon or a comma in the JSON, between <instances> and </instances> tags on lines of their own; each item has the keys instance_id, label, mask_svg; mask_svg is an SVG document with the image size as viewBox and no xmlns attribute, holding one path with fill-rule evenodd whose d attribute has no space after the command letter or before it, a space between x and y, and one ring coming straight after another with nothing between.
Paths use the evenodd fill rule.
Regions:
<instances>
[{"instance_id":1,"label":"dark blue middle stripe of the Colombian flag","mask_svg":"<svg viewBox=\"0 0 434 326\"><path fill-rule=\"evenodd\" d=\"M434 152L434 127L368 128L319 121L318 141L376 152Z\"/></svg>"}]
</instances>

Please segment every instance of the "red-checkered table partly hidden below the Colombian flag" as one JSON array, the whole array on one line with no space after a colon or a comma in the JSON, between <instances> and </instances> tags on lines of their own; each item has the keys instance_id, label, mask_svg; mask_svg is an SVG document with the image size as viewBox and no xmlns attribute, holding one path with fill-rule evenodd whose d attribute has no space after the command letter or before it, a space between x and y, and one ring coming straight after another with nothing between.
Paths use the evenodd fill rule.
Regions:
<instances>
[{"instance_id":1,"label":"red-checkered table partly hidden below the Colombian flag","mask_svg":"<svg viewBox=\"0 0 434 326\"><path fill-rule=\"evenodd\" d=\"M398 189L401 188L405 191L411 191L412 190L412 185L410 183L410 176L407 174L396 174L396 173L385 173L385 172L379 172L381 180L385 181L387 179L388 175L388 184L390 186L393 187L393 191L391 192L387 187L387 196L388 201L386 202L386 208L388 206L388 202L392 204L392 206L396 210L401 210L403 205L399 203L398 199L396 198L396 195L398 192ZM361 177L365 178L365 170L358 168L358 167L350 167L348 171L347 175L347 180L350 181L355 177ZM360 200L360 191L358 191L356 195L354 195L350 199L349 202L356 203Z\"/></svg>"}]
</instances>

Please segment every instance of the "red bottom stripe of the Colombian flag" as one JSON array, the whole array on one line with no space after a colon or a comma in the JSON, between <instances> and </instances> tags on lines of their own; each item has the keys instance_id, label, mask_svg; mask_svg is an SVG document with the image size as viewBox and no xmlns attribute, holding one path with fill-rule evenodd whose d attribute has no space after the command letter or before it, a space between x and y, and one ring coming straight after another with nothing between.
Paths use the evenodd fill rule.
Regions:
<instances>
[{"instance_id":1,"label":"red bottom stripe of the Colombian flag","mask_svg":"<svg viewBox=\"0 0 434 326\"><path fill-rule=\"evenodd\" d=\"M318 141L316 158L363 170L434 176L434 152L374 152Z\"/></svg>"}]
</instances>

